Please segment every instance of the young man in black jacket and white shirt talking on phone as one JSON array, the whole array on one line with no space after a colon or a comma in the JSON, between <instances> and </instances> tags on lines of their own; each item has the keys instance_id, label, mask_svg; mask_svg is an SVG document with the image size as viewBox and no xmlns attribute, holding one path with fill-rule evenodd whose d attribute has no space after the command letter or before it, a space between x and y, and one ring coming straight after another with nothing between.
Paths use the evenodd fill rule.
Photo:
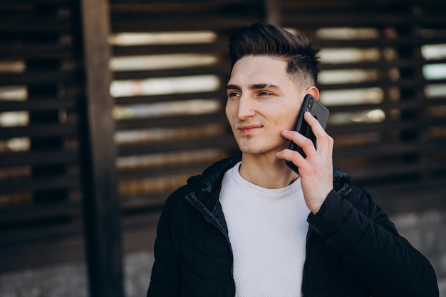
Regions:
<instances>
[{"instance_id":1,"label":"young man in black jacket and white shirt talking on phone","mask_svg":"<svg viewBox=\"0 0 446 297\"><path fill-rule=\"evenodd\" d=\"M226 114L242 159L215 163L167 199L147 296L438 296L429 261L333 171L333 139L318 121L305 114L317 148L291 131L304 96L319 95L318 49L255 23L229 53Z\"/></svg>"}]
</instances>

